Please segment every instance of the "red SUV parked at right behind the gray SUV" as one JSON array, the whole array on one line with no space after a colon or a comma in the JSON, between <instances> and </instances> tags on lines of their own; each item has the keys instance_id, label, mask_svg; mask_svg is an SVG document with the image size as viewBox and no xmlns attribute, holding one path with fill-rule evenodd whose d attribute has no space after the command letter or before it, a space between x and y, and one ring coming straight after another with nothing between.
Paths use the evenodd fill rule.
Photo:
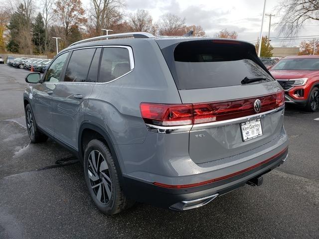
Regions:
<instances>
[{"instance_id":1,"label":"red SUV parked at right behind the gray SUV","mask_svg":"<svg viewBox=\"0 0 319 239\"><path fill-rule=\"evenodd\" d=\"M310 112L319 107L319 55L288 56L270 69L285 90L286 103Z\"/></svg>"}]
</instances>

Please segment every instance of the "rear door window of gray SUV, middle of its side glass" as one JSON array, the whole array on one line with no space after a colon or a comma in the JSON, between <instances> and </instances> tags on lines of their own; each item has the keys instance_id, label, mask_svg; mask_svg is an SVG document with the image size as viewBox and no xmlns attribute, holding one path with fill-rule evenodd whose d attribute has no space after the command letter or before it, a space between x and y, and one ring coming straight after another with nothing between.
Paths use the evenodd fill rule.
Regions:
<instances>
[{"instance_id":1,"label":"rear door window of gray SUV, middle of its side glass","mask_svg":"<svg viewBox=\"0 0 319 239\"><path fill-rule=\"evenodd\" d=\"M96 48L74 50L65 72L65 82L86 82Z\"/></svg>"}]
</instances>

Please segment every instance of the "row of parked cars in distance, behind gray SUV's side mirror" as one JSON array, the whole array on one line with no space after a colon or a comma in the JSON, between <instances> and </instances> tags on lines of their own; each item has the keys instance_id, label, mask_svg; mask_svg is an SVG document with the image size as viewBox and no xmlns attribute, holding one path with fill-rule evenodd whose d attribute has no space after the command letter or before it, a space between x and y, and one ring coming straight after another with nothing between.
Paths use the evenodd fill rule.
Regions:
<instances>
[{"instance_id":1,"label":"row of parked cars in distance, behind gray SUV's side mirror","mask_svg":"<svg viewBox=\"0 0 319 239\"><path fill-rule=\"evenodd\" d=\"M6 64L20 69L33 70L44 73L51 61L52 59L38 59L27 57L19 57L13 59L13 57L8 57Z\"/></svg>"}]
</instances>

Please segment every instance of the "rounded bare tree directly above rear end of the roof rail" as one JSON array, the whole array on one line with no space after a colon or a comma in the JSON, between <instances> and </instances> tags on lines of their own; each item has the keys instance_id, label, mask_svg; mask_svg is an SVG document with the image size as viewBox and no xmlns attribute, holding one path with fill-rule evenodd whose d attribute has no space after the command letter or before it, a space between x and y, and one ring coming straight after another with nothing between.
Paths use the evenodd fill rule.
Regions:
<instances>
[{"instance_id":1,"label":"rounded bare tree directly above rear end of the roof rail","mask_svg":"<svg viewBox=\"0 0 319 239\"><path fill-rule=\"evenodd\" d=\"M153 19L149 11L138 9L136 13L130 15L130 25L134 31L151 32Z\"/></svg>"}]
</instances>

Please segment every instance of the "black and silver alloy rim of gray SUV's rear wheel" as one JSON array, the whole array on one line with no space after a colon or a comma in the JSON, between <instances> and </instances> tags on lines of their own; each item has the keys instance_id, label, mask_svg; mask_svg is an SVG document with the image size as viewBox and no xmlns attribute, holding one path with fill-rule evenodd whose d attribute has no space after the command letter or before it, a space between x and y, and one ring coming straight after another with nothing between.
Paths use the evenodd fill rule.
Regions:
<instances>
[{"instance_id":1,"label":"black and silver alloy rim of gray SUV's rear wheel","mask_svg":"<svg viewBox=\"0 0 319 239\"><path fill-rule=\"evenodd\" d=\"M88 177L96 199L107 204L112 195L112 181L109 166L98 150L92 150L89 154Z\"/></svg>"}]
</instances>

